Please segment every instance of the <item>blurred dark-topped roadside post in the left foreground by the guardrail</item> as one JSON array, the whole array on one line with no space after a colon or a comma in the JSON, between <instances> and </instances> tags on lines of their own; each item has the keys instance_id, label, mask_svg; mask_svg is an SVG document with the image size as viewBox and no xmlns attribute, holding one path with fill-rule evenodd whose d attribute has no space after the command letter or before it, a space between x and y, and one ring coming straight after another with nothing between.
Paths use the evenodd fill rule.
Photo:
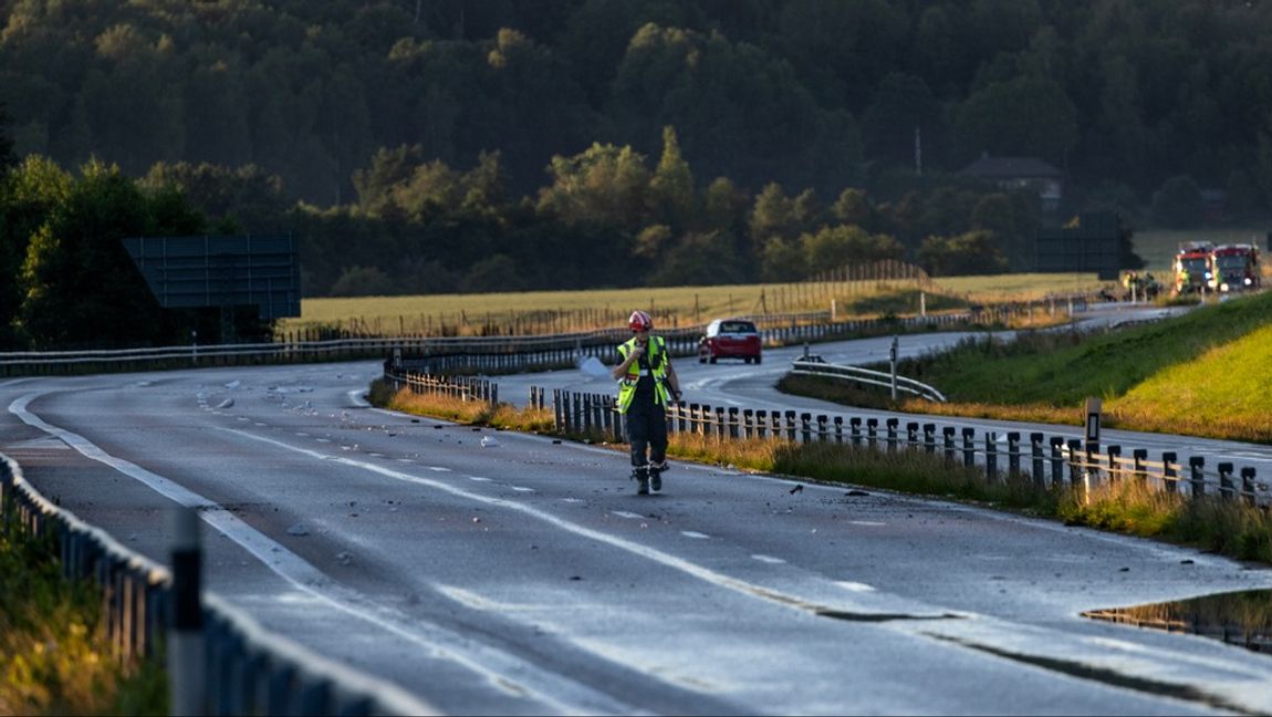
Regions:
<instances>
[{"instance_id":1,"label":"blurred dark-topped roadside post in the left foreground by the guardrail","mask_svg":"<svg viewBox=\"0 0 1272 717\"><path fill-rule=\"evenodd\" d=\"M198 513L173 512L172 625L168 633L168 684L173 714L206 714L202 572Z\"/></svg>"}]
</instances>

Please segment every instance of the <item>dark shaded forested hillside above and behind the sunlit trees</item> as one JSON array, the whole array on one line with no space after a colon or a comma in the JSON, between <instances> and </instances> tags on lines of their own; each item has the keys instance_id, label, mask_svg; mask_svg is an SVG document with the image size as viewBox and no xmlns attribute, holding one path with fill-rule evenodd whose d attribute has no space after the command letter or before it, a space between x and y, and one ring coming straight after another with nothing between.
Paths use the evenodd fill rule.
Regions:
<instances>
[{"instance_id":1,"label":"dark shaded forested hillside above and behind the sunlit trees","mask_svg":"<svg viewBox=\"0 0 1272 717\"><path fill-rule=\"evenodd\" d=\"M317 206L383 148L497 152L527 195L552 157L653 157L665 126L752 194L892 200L988 153L1063 169L1066 215L1135 220L1183 177L1238 217L1272 199L1267 3L25 0L0 25L20 155L257 166Z\"/></svg>"}]
</instances>

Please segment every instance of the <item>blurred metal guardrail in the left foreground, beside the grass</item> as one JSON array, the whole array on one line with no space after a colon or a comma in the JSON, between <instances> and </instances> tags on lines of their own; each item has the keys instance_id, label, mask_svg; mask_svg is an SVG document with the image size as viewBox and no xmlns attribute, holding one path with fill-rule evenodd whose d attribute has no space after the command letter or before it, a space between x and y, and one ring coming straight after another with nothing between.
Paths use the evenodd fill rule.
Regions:
<instances>
[{"instance_id":1,"label":"blurred metal guardrail in the left foreground, beside the grass","mask_svg":"<svg viewBox=\"0 0 1272 717\"><path fill-rule=\"evenodd\" d=\"M173 609L172 572L59 508L0 453L0 520L32 537L53 535L62 574L102 591L107 637L121 661L154 656ZM201 714L436 714L403 689L319 657L262 629L226 600L202 600L206 671Z\"/></svg>"}]
</instances>

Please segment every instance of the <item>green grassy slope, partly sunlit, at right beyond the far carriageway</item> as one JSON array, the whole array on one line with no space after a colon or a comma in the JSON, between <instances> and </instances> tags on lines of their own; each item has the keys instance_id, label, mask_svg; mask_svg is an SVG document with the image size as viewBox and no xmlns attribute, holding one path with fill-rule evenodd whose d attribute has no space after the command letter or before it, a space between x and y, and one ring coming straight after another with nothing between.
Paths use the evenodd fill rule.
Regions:
<instances>
[{"instance_id":1,"label":"green grassy slope, partly sunlit, at right beyond the far carriageway","mask_svg":"<svg viewBox=\"0 0 1272 717\"><path fill-rule=\"evenodd\" d=\"M1105 334L1038 331L1015 341L967 340L898 364L898 373L935 386L951 405L890 408L1077 423L1085 399L1094 396L1103 399L1109 427L1272 442L1269 359L1272 293L1266 293ZM881 401L870 401L866 392L838 400Z\"/></svg>"}]
</instances>

